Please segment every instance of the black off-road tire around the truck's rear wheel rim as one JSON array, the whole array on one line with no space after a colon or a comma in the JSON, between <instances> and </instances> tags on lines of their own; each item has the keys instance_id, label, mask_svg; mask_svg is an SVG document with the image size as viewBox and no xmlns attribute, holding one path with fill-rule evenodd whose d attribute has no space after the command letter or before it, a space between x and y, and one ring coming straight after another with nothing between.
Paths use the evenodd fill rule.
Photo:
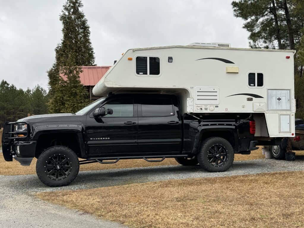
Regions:
<instances>
[{"instance_id":1,"label":"black off-road tire around the truck's rear wheel rim","mask_svg":"<svg viewBox=\"0 0 304 228\"><path fill-rule=\"evenodd\" d=\"M221 162L219 166L215 166L211 164L209 159L210 157L210 149L214 146L219 146L225 150L226 158ZM216 156L215 156L216 157ZM229 169L234 160L234 150L231 144L221 137L210 137L202 142L202 146L200 148L199 154L197 156L199 161L199 166L209 172L224 172Z\"/></svg>"}]
</instances>

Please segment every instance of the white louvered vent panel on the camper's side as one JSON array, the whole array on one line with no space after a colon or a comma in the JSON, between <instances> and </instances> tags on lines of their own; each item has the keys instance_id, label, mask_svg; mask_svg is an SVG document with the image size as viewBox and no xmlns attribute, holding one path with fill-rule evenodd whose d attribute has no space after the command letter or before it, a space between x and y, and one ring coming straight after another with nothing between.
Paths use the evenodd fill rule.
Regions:
<instances>
[{"instance_id":1,"label":"white louvered vent panel on the camper's side","mask_svg":"<svg viewBox=\"0 0 304 228\"><path fill-rule=\"evenodd\" d=\"M218 105L218 87L195 87L195 104L197 105Z\"/></svg>"}]
</instances>

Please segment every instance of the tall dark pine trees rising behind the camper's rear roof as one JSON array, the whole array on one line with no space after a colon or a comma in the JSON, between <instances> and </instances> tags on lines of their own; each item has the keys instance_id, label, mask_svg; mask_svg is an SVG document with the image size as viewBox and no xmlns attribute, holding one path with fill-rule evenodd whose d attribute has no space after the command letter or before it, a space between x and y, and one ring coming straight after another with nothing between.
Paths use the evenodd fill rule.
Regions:
<instances>
[{"instance_id":1,"label":"tall dark pine trees rising behind the camper's rear roof","mask_svg":"<svg viewBox=\"0 0 304 228\"><path fill-rule=\"evenodd\" d=\"M295 50L303 35L301 1L240 0L232 7L234 16L245 21L251 47Z\"/></svg>"}]
</instances>

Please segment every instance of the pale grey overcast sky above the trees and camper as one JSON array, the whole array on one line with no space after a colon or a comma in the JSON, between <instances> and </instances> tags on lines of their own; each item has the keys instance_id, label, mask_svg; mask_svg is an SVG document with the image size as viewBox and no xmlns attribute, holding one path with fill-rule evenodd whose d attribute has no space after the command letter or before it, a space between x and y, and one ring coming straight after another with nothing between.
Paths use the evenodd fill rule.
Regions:
<instances>
[{"instance_id":1,"label":"pale grey overcast sky above the trees and camper","mask_svg":"<svg viewBox=\"0 0 304 228\"><path fill-rule=\"evenodd\" d=\"M0 81L47 88L46 71L60 42L64 0L0 0ZM230 0L83 0L95 64L112 65L135 47L227 42L248 47Z\"/></svg>"}]
</instances>

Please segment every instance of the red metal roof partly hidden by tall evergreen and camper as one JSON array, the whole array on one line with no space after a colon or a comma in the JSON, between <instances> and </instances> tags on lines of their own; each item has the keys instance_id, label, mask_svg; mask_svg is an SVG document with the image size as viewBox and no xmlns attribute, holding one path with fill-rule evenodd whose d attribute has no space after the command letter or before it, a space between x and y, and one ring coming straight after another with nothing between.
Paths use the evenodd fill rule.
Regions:
<instances>
[{"instance_id":1,"label":"red metal roof partly hidden by tall evergreen and camper","mask_svg":"<svg viewBox=\"0 0 304 228\"><path fill-rule=\"evenodd\" d=\"M96 85L110 67L111 66L83 66L82 72L79 74L81 84ZM64 80L67 80L66 75L60 74L60 76Z\"/></svg>"}]
</instances>

